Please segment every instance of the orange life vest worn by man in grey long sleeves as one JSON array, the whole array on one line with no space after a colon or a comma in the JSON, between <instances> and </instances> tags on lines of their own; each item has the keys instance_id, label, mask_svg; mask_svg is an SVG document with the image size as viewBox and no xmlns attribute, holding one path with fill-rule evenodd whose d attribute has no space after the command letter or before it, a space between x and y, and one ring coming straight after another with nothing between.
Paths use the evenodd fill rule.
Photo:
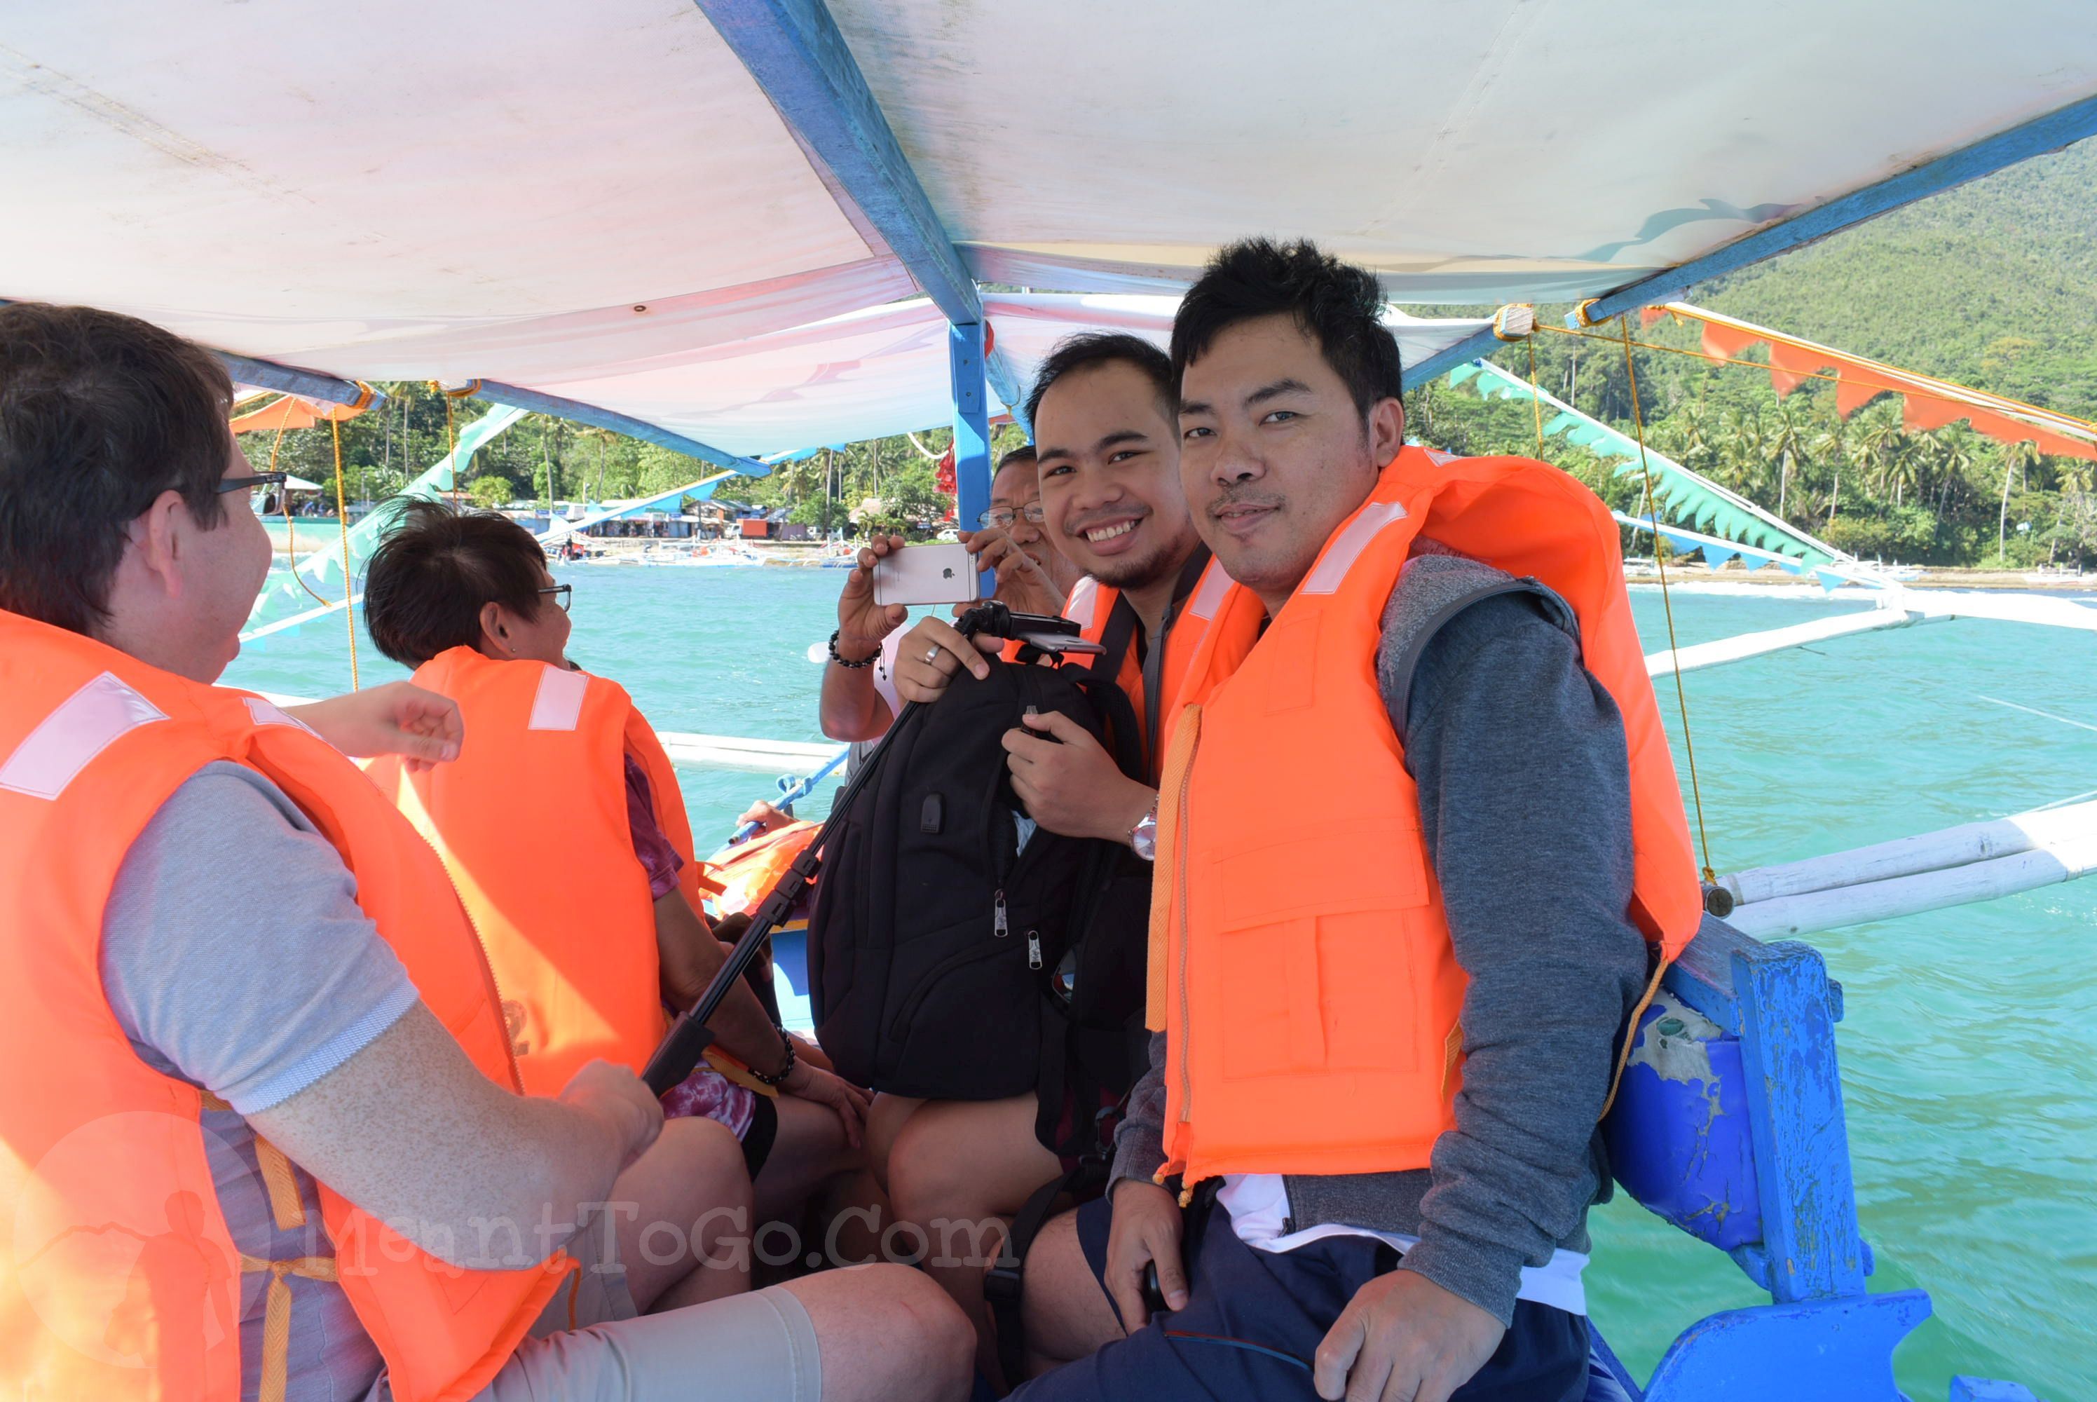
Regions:
<instances>
[{"instance_id":1,"label":"orange life vest worn by man in grey long sleeves","mask_svg":"<svg viewBox=\"0 0 2097 1402\"><path fill-rule=\"evenodd\" d=\"M1466 978L1376 684L1384 604L1418 537L1573 607L1583 661L1623 711L1631 915L1663 959L1696 932L1696 863L1608 508L1539 462L1407 447L1264 636L1258 596L1229 590L1181 688L1149 1022L1168 1035L1164 1173L1189 1186L1420 1169L1455 1125Z\"/></svg>"}]
</instances>

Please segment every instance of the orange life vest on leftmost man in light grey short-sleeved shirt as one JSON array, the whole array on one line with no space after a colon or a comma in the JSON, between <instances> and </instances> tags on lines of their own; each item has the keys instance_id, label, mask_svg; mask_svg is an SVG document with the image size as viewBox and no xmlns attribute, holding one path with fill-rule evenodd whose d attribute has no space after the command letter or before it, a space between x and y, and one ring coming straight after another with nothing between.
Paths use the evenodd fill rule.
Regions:
<instances>
[{"instance_id":1,"label":"orange life vest on leftmost man in light grey short-sleeved shirt","mask_svg":"<svg viewBox=\"0 0 2097 1402\"><path fill-rule=\"evenodd\" d=\"M260 697L0 611L4 1373L36 1398L231 1402L243 1291L275 1280L275 1322L279 1291L289 1308L281 1278L298 1274L340 1278L396 1398L468 1398L572 1261L459 1270L325 1184L336 1255L241 1257L206 1159L201 1091L140 1062L109 1012L96 963L109 888L161 802L214 760L266 774L312 819L421 1001L516 1089L487 961L445 869L354 764ZM281 1377L281 1354L264 1352L262 1368Z\"/></svg>"}]
</instances>

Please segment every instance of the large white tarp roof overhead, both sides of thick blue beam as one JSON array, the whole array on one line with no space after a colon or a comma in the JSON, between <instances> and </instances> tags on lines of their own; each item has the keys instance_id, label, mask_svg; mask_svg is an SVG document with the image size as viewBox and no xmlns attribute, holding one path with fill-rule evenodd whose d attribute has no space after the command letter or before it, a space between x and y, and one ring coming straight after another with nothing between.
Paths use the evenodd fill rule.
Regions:
<instances>
[{"instance_id":1,"label":"large white tarp roof overhead, both sides of thick blue beam","mask_svg":"<svg viewBox=\"0 0 2097 1402\"><path fill-rule=\"evenodd\" d=\"M1069 292L1275 233L1585 296L2097 92L2087 0L833 10L975 273ZM914 290L690 0L17 4L0 189L4 298L656 422L694 350Z\"/></svg>"}]
</instances>

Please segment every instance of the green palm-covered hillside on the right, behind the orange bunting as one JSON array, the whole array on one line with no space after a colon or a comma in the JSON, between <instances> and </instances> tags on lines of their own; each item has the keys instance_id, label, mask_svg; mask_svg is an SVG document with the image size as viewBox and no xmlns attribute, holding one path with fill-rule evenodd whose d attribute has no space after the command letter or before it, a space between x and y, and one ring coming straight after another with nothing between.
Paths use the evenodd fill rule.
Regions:
<instances>
[{"instance_id":1,"label":"green palm-covered hillside on the right, behind the orange bunting","mask_svg":"<svg viewBox=\"0 0 2097 1402\"><path fill-rule=\"evenodd\" d=\"M2097 141L1713 279L1684 300L2097 418ZM1569 309L1537 311L1560 325ZM1759 369L1652 348L1694 346L1686 325L1663 321L1634 338L1650 342L1636 353L1648 439L1837 548L1936 565L2097 558L2091 462L1992 443L1965 424L1906 432L1894 399L1841 420L1831 384L1778 399ZM1533 348L1543 388L1631 430L1621 346L1539 334ZM1512 346L1495 359L1529 374L1527 357ZM1455 451L1535 451L1527 405L1436 384L1415 390L1411 413ZM1636 504L1627 481L1579 449L1554 443L1548 455L1610 504Z\"/></svg>"}]
</instances>

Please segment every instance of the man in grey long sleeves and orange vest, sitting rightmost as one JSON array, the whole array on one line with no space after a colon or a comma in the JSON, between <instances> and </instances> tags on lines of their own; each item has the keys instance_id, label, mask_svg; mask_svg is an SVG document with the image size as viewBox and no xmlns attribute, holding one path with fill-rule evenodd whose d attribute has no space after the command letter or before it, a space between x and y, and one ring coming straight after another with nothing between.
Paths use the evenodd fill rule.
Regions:
<instances>
[{"instance_id":1,"label":"man in grey long sleeves and orange vest, sitting rightmost","mask_svg":"<svg viewBox=\"0 0 2097 1402\"><path fill-rule=\"evenodd\" d=\"M1380 315L1369 273L1252 239L1174 321L1235 586L1164 764L1151 1072L1028 1270L1030 1345L1082 1362L1030 1402L1585 1396L1613 1041L1696 871L1615 523L1545 464L1405 445Z\"/></svg>"}]
</instances>

